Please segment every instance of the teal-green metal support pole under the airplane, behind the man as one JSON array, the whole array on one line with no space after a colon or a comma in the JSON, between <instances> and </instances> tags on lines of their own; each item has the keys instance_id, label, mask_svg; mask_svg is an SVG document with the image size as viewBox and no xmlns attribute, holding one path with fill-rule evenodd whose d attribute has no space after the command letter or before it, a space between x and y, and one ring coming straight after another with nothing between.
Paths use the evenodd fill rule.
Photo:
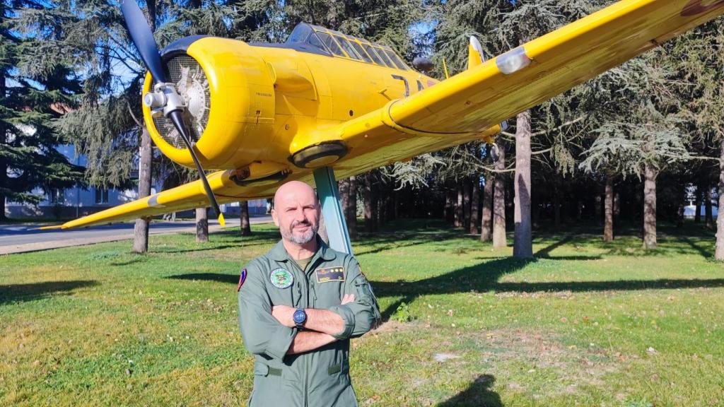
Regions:
<instances>
[{"instance_id":1,"label":"teal-green metal support pole under the airplane, behind the man","mask_svg":"<svg viewBox=\"0 0 724 407\"><path fill-rule=\"evenodd\" d=\"M350 243L350 234L347 231L345 213L340 204L340 191L337 190L334 169L332 167L315 169L314 183L321 203L321 213L324 215L324 224L327 226L329 247L336 251L352 254L352 243Z\"/></svg>"}]
</instances>

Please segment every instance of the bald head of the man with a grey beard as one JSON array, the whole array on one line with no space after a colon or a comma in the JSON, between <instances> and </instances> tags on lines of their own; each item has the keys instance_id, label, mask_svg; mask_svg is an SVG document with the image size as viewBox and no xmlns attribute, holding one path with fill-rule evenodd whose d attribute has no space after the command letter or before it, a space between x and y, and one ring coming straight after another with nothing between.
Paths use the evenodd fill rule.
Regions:
<instances>
[{"instance_id":1,"label":"bald head of the man with a grey beard","mask_svg":"<svg viewBox=\"0 0 724 407\"><path fill-rule=\"evenodd\" d=\"M285 183L274 194L271 218L287 242L310 242L319 229L319 201L314 190L300 181Z\"/></svg>"}]
</instances>

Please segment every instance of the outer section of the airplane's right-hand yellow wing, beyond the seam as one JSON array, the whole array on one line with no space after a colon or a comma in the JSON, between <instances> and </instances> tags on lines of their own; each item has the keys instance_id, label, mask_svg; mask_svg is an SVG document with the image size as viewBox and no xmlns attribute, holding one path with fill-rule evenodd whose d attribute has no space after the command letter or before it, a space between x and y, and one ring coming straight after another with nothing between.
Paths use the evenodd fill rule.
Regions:
<instances>
[{"instance_id":1,"label":"outer section of the airplane's right-hand yellow wing, beyond the seam","mask_svg":"<svg viewBox=\"0 0 724 407\"><path fill-rule=\"evenodd\" d=\"M411 133L480 132L723 13L724 0L619 1L395 101L385 121Z\"/></svg>"}]
</instances>

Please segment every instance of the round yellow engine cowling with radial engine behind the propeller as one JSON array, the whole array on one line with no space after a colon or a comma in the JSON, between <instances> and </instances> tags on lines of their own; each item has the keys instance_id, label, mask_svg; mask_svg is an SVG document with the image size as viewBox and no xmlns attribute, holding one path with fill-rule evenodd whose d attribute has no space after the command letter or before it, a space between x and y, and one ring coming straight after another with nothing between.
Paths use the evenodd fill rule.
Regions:
<instances>
[{"instance_id":1,"label":"round yellow engine cowling with radial engine behind the propeller","mask_svg":"<svg viewBox=\"0 0 724 407\"><path fill-rule=\"evenodd\" d=\"M253 47L227 38L189 37L164 49L161 59L185 101L184 121L201 165L236 169L260 159L273 133L274 80ZM152 85L148 74L143 93ZM194 166L169 119L153 117L145 105L143 117L164 155Z\"/></svg>"}]
</instances>

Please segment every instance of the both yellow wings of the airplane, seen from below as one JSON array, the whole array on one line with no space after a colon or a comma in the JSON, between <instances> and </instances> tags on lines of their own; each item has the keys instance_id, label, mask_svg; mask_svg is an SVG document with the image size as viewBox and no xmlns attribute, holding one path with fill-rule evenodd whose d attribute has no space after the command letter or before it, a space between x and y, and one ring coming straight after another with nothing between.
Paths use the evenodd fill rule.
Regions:
<instances>
[{"instance_id":1,"label":"both yellow wings of the airplane, seen from below","mask_svg":"<svg viewBox=\"0 0 724 407\"><path fill-rule=\"evenodd\" d=\"M724 13L724 0L623 0L382 109L302 135L297 145L343 140L348 154L333 164L343 178L395 161L489 138L497 123L573 88L663 41ZM260 164L261 165L261 164ZM272 196L285 180L312 181L311 169L253 169L209 175L219 203ZM285 164L288 165L288 164ZM286 167L285 167L286 168ZM281 171L281 172L280 172ZM67 222L62 228L150 217L208 206L201 182Z\"/></svg>"}]
</instances>

